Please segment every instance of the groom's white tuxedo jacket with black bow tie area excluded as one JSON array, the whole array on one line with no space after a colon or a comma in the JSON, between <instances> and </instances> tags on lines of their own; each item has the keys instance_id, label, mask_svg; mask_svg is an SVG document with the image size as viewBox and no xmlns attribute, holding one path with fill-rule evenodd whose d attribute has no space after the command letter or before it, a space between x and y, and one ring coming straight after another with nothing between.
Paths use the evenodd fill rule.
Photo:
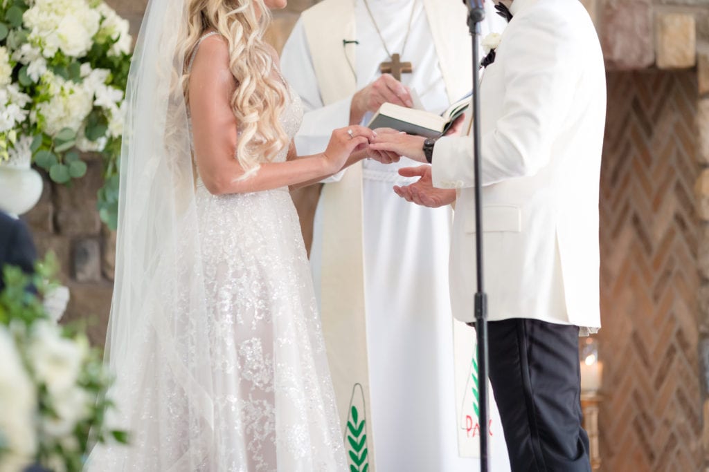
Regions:
<instances>
[{"instance_id":1,"label":"groom's white tuxedo jacket with black bow tie area excluded","mask_svg":"<svg viewBox=\"0 0 709 472\"><path fill-rule=\"evenodd\" d=\"M601 326L598 185L605 71L577 0L514 0L481 81L489 320ZM450 257L454 316L474 319L474 166L469 137L434 148L433 183L458 189Z\"/></svg>"}]
</instances>

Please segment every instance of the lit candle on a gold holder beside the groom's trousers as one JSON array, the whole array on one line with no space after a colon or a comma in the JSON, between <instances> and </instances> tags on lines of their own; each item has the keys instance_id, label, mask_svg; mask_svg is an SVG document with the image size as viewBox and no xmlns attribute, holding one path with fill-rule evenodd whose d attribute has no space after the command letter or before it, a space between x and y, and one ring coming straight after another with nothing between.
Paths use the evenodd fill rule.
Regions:
<instances>
[{"instance_id":1,"label":"lit candle on a gold holder beside the groom's trousers","mask_svg":"<svg viewBox=\"0 0 709 472\"><path fill-rule=\"evenodd\" d=\"M588 455L591 469L601 468L599 447L598 411L601 409L600 395L603 381L603 362L598 359L598 339L581 338L579 343L581 361L581 410L584 413L584 430L588 433Z\"/></svg>"}]
</instances>

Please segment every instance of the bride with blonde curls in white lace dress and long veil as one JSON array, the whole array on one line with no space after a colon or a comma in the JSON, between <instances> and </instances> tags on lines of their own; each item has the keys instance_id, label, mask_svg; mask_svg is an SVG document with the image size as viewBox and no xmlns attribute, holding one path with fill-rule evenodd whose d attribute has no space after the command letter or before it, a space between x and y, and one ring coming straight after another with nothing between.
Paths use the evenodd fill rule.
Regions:
<instances>
[{"instance_id":1,"label":"bride with blonde curls in white lace dress and long veil","mask_svg":"<svg viewBox=\"0 0 709 472\"><path fill-rule=\"evenodd\" d=\"M288 186L367 156L374 133L291 139L301 103L264 43L285 0L151 0L128 84L116 374L97 471L344 471L306 251ZM376 156L382 161L387 155Z\"/></svg>"}]
</instances>

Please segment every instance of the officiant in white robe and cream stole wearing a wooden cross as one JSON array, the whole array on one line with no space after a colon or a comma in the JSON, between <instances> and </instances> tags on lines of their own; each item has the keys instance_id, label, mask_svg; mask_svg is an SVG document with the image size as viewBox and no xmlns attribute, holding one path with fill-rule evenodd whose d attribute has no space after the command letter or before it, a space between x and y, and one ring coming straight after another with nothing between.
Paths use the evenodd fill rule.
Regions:
<instances>
[{"instance_id":1,"label":"officiant in white robe and cream stole wearing a wooden cross","mask_svg":"<svg viewBox=\"0 0 709 472\"><path fill-rule=\"evenodd\" d=\"M440 113L464 96L465 16L459 0L324 0L304 11L281 57L306 108L298 152L323 151L335 127L366 125L381 103ZM484 30L501 31L505 22L492 10L488 18ZM391 185L410 182L397 173L407 161L364 161L327 180L319 197L311 266L340 420L354 420L352 406L366 414L376 470L471 471L476 459L457 448L452 210L392 194ZM506 463L503 442L496 446Z\"/></svg>"}]
</instances>

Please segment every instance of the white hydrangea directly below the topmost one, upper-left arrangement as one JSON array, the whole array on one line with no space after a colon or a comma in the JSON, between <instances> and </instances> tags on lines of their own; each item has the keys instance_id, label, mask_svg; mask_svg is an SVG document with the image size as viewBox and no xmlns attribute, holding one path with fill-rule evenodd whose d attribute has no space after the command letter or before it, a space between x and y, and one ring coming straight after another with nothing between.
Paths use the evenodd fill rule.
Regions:
<instances>
[{"instance_id":1,"label":"white hydrangea directly below the topmost one, upper-left arrangement","mask_svg":"<svg viewBox=\"0 0 709 472\"><path fill-rule=\"evenodd\" d=\"M47 72L41 81L48 87L49 101L39 103L36 112L44 117L43 131L55 136L63 128L79 129L94 106L94 94L83 84L65 81Z\"/></svg>"}]
</instances>

